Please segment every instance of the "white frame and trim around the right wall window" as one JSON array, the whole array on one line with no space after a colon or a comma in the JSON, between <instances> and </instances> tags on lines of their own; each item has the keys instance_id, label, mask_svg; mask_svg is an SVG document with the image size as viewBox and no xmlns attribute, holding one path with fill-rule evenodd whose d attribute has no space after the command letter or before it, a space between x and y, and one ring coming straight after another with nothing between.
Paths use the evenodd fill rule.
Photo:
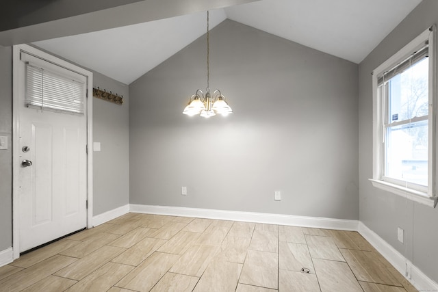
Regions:
<instances>
[{"instance_id":1,"label":"white frame and trim around the right wall window","mask_svg":"<svg viewBox=\"0 0 438 292\"><path fill-rule=\"evenodd\" d=\"M436 207L438 197L435 195L437 181L437 140L435 129L437 127L436 118L436 57L435 57L435 31L436 26L428 27L425 31L409 42L400 51L389 57L383 64L378 66L372 72L372 94L373 94L373 172L370 181L374 187L389 191L398 196L403 196L410 200L426 204L430 207ZM428 42L428 186L420 187L414 183L400 183L393 178L384 176L385 174L385 119L387 98L383 94L383 90L378 86L378 78L385 72L391 70L400 62L403 62L414 52L422 49L425 42Z\"/></svg>"}]
</instances>

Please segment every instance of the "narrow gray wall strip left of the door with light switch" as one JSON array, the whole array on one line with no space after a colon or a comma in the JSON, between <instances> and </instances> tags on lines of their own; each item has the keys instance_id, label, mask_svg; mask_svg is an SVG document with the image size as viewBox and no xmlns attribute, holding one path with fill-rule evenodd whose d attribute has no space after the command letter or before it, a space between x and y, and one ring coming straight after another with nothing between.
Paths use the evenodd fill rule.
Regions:
<instances>
[{"instance_id":1,"label":"narrow gray wall strip left of the door with light switch","mask_svg":"<svg viewBox=\"0 0 438 292\"><path fill-rule=\"evenodd\" d=\"M0 252L12 246L12 48L0 46Z\"/></svg>"}]
</instances>

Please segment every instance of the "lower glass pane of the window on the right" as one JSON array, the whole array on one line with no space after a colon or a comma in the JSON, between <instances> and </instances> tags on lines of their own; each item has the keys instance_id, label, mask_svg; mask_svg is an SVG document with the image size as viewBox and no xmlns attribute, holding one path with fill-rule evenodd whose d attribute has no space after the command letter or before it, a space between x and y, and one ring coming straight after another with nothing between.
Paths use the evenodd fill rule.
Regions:
<instances>
[{"instance_id":1,"label":"lower glass pane of the window on the right","mask_svg":"<svg viewBox=\"0 0 438 292\"><path fill-rule=\"evenodd\" d=\"M385 175L428 183L428 121L387 128Z\"/></svg>"}]
</instances>

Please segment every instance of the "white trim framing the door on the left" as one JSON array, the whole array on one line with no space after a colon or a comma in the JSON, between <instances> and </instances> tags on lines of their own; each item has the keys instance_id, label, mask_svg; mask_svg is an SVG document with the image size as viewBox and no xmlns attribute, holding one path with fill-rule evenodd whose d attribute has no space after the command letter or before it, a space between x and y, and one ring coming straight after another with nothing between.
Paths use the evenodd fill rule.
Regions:
<instances>
[{"instance_id":1,"label":"white trim framing the door on the left","mask_svg":"<svg viewBox=\"0 0 438 292\"><path fill-rule=\"evenodd\" d=\"M81 68L75 64L67 62L64 59L60 59L59 57L55 57L50 55L49 53L45 53L44 51L40 51L35 47L31 47L27 44L18 44L13 46L12 48L12 248L13 248L13 256L14 259L20 257L20 206L18 200L18 185L19 185L19 168L18 165L20 163L19 159L19 139L18 133L20 129L20 120L18 116L18 86L21 82L24 81L23 78L18 76L18 62L20 61L20 52L26 51L31 53L32 55L36 55L41 57L42 59L46 59L49 62L54 64L63 66L65 68L69 68L70 70L74 70L81 75L87 77L87 92L88 98L86 98L86 120L87 120L87 146L88 146L88 155L87 155L87 200L88 200L88 209L87 209L87 228L92 227L92 218L93 218L93 152L92 152L92 84L93 84L93 73L89 70Z\"/></svg>"}]
</instances>

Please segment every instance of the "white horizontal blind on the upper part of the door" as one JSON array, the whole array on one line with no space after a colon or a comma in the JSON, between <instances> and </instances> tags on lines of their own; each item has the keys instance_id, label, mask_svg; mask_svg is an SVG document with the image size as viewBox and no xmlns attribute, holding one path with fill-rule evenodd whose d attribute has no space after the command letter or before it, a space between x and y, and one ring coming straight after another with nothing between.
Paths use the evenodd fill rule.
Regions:
<instances>
[{"instance_id":1,"label":"white horizontal blind on the upper part of the door","mask_svg":"<svg viewBox=\"0 0 438 292\"><path fill-rule=\"evenodd\" d=\"M59 72L26 64L27 107L84 114L85 83Z\"/></svg>"}]
</instances>

